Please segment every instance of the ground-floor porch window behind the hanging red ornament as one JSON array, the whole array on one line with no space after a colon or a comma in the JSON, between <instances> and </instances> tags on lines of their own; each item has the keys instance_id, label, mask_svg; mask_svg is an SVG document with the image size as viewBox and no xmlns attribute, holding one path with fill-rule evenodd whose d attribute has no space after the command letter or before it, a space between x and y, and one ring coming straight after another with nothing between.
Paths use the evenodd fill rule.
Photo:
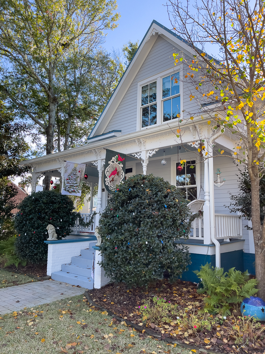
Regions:
<instances>
[{"instance_id":1,"label":"ground-floor porch window behind the hanging red ornament","mask_svg":"<svg viewBox=\"0 0 265 354\"><path fill-rule=\"evenodd\" d=\"M196 161L187 161L181 171L178 171L177 167L180 165L176 163L176 186L183 188L185 198L188 201L197 199L197 183L196 183ZM194 166L191 168L191 166Z\"/></svg>"}]
</instances>

